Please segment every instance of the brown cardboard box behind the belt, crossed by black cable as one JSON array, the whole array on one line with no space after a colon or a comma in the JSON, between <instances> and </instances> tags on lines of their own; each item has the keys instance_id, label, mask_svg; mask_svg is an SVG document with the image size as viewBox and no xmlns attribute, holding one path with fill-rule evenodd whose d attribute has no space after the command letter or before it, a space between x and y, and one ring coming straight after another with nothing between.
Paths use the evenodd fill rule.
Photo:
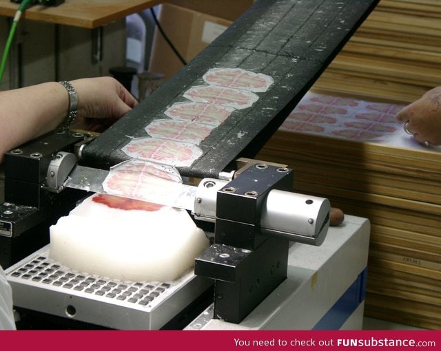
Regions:
<instances>
[{"instance_id":1,"label":"brown cardboard box behind the belt, crossed by black cable","mask_svg":"<svg viewBox=\"0 0 441 351\"><path fill-rule=\"evenodd\" d=\"M169 3L161 6L158 20L187 63L232 24L232 21ZM149 71L163 73L167 80L182 68L183 63L156 28Z\"/></svg>"}]
</instances>

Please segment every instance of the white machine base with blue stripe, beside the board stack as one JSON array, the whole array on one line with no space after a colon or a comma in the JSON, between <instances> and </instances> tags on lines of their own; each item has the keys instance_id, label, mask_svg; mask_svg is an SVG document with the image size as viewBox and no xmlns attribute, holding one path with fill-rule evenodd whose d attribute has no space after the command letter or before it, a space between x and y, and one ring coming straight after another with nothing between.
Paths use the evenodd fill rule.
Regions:
<instances>
[{"instance_id":1,"label":"white machine base with blue stripe, beside the board stack","mask_svg":"<svg viewBox=\"0 0 441 351\"><path fill-rule=\"evenodd\" d=\"M287 279L240 323L213 317L209 306L186 330L361 330L369 220L345 216L323 244L291 243Z\"/></svg>"}]
</instances>

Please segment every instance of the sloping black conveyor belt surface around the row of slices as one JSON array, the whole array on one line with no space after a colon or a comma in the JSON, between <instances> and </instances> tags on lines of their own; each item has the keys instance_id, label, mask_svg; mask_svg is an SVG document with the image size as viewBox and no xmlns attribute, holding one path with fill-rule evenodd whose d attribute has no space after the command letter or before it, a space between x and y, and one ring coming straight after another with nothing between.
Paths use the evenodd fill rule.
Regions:
<instances>
[{"instance_id":1,"label":"sloping black conveyor belt surface around the row of slices","mask_svg":"<svg viewBox=\"0 0 441 351\"><path fill-rule=\"evenodd\" d=\"M252 158L280 127L378 0L260 0L183 70L83 150L86 163L110 167L129 159L121 148L144 127L167 118L172 103L203 85L215 67L240 67L274 78L252 107L231 116L201 142L203 156L181 175L217 177L237 157ZM240 132L240 138L238 133Z\"/></svg>"}]
</instances>

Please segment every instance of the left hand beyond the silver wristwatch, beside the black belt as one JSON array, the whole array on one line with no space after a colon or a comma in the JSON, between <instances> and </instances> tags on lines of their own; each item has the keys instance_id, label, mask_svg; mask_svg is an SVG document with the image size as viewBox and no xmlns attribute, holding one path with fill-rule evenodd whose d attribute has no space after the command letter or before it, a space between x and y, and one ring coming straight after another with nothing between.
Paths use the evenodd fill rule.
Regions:
<instances>
[{"instance_id":1,"label":"left hand beyond the silver wristwatch, beside the black belt","mask_svg":"<svg viewBox=\"0 0 441 351\"><path fill-rule=\"evenodd\" d=\"M109 76L82 78L70 83L78 94L74 129L103 131L138 105L134 96Z\"/></svg>"}]
</instances>

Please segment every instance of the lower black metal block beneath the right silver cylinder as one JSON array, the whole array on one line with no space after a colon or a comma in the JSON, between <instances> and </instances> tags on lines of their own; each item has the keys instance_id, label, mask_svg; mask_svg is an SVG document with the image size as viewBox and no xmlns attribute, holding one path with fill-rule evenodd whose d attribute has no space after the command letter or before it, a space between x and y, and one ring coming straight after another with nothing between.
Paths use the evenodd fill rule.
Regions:
<instances>
[{"instance_id":1,"label":"lower black metal block beneath the right silver cylinder","mask_svg":"<svg viewBox=\"0 0 441 351\"><path fill-rule=\"evenodd\" d=\"M214 318L240 323L287 275L287 240L269 238L255 251L210 246L195 274L215 279Z\"/></svg>"}]
</instances>

